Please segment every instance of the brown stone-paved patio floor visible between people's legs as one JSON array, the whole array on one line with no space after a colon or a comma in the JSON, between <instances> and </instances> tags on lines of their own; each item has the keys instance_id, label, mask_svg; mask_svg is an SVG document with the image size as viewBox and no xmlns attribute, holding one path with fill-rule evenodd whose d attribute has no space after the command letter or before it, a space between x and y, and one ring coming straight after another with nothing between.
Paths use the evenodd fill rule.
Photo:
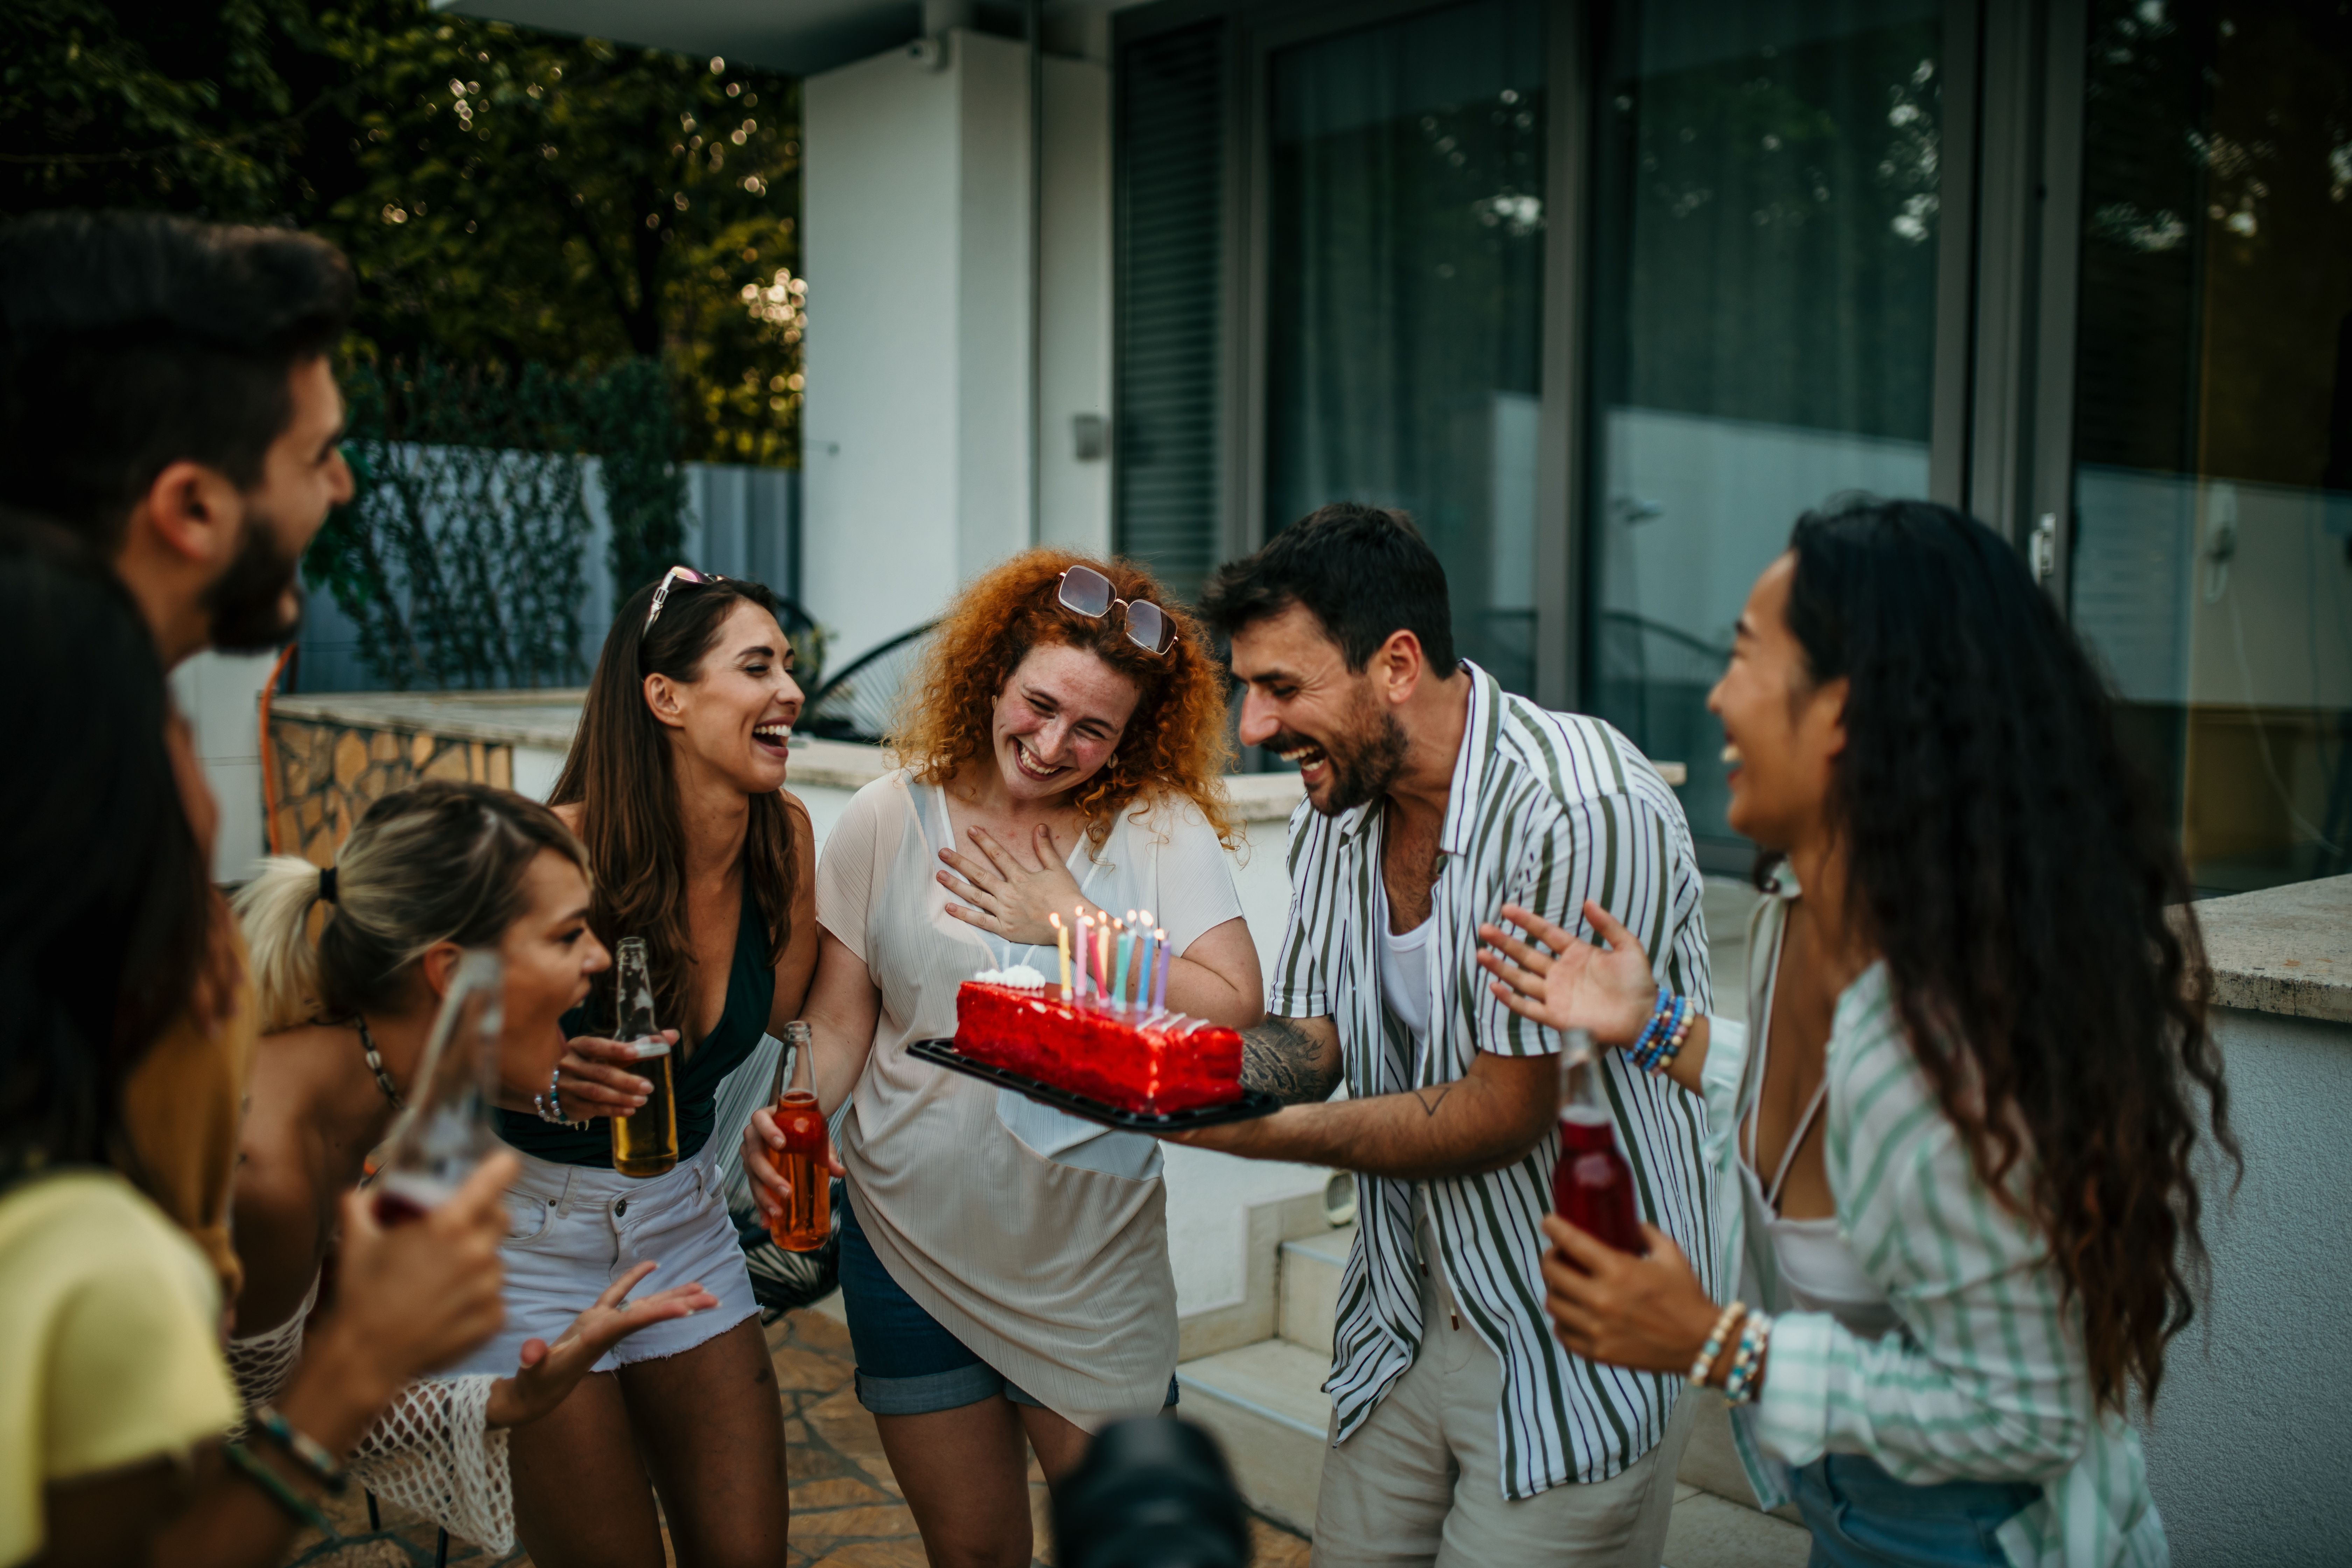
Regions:
<instances>
[{"instance_id":1,"label":"brown stone-paved patio floor visible between people's legs","mask_svg":"<svg viewBox=\"0 0 2352 1568\"><path fill-rule=\"evenodd\" d=\"M793 1481L793 1537L779 1568L924 1568L915 1516L898 1500L873 1418L849 1387L849 1331L821 1312L793 1312L767 1331L783 1394L783 1441ZM1037 1561L1051 1563L1044 1476L1030 1462L1030 1514ZM306 1530L287 1556L294 1568L430 1568L435 1528L386 1509L367 1528L367 1502L353 1490L327 1516L343 1540ZM1251 1521L1258 1568L1305 1568L1308 1542L1263 1519ZM470 1542L449 1542L449 1561L470 1568L529 1568L524 1552L494 1559Z\"/></svg>"}]
</instances>

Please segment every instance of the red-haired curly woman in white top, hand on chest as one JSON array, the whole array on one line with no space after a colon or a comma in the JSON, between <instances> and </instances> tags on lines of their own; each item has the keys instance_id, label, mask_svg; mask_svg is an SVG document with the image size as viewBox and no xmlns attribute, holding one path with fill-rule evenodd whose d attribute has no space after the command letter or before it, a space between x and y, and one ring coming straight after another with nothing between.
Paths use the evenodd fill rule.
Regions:
<instances>
[{"instance_id":1,"label":"red-haired curly woman in white top, hand on chest","mask_svg":"<svg viewBox=\"0 0 2352 1568\"><path fill-rule=\"evenodd\" d=\"M818 1098L849 1100L856 1389L929 1559L1028 1563L1023 1436L1058 1481L1089 1432L1176 1396L1160 1150L906 1044L955 1032L976 971L1054 973L1047 914L1150 910L1167 1006L1258 1023L1223 675L1138 567L1033 550L948 611L891 748L906 766L858 790L816 867L807 1004ZM774 1140L764 1112L748 1138Z\"/></svg>"}]
</instances>

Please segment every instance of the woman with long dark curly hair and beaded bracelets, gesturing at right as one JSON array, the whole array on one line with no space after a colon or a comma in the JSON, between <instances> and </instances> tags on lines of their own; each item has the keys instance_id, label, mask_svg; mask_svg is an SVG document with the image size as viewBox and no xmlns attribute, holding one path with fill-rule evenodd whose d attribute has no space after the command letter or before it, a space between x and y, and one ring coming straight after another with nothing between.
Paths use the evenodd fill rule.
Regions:
<instances>
[{"instance_id":1,"label":"woman with long dark curly hair and beaded bracelets, gesturing at right","mask_svg":"<svg viewBox=\"0 0 2352 1568\"><path fill-rule=\"evenodd\" d=\"M2161 1563L2133 1401L2204 1267L2199 1105L2230 1135L2180 856L2056 607L1980 522L1809 512L1710 710L1764 851L1748 1025L1693 1018L1632 933L1503 910L1496 994L1703 1093L1717 1307L1550 1220L1576 1354L1722 1387L1813 1563Z\"/></svg>"}]
</instances>

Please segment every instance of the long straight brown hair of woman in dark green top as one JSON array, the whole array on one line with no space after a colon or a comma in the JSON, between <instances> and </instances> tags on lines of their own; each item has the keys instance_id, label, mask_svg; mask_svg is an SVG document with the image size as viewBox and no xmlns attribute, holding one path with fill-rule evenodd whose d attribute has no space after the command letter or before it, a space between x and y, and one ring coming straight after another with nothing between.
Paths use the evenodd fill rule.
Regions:
<instances>
[{"instance_id":1,"label":"long straight brown hair of woman in dark green top","mask_svg":"<svg viewBox=\"0 0 2352 1568\"><path fill-rule=\"evenodd\" d=\"M687 839L668 731L644 705L644 677L699 682L703 658L734 607L757 604L774 616L776 595L739 578L673 585L661 618L647 632L644 611L652 602L654 583L647 583L628 595L604 632L604 651L597 654L588 701L581 705L581 729L572 736L572 752L548 804L581 809L581 842L595 867L588 924L607 943L644 938L654 1004L663 1020L677 1023L687 1016L687 971L694 966L687 933ZM779 628L779 656L788 656L786 649ZM750 797L743 879L760 905L767 961L774 964L793 936L793 816L783 795ZM604 1011L595 1018L604 1025L612 976L600 978L597 997Z\"/></svg>"}]
</instances>

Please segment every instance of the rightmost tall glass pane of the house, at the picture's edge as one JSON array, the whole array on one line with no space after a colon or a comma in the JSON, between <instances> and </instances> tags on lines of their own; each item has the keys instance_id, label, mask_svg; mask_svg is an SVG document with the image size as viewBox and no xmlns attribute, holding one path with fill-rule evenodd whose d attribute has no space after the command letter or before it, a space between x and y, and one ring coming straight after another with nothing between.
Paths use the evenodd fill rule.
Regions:
<instances>
[{"instance_id":1,"label":"rightmost tall glass pane of the house, at the picture's edge","mask_svg":"<svg viewBox=\"0 0 2352 1568\"><path fill-rule=\"evenodd\" d=\"M2352 16L2098 0L2074 625L2190 875L2352 870Z\"/></svg>"}]
</instances>

